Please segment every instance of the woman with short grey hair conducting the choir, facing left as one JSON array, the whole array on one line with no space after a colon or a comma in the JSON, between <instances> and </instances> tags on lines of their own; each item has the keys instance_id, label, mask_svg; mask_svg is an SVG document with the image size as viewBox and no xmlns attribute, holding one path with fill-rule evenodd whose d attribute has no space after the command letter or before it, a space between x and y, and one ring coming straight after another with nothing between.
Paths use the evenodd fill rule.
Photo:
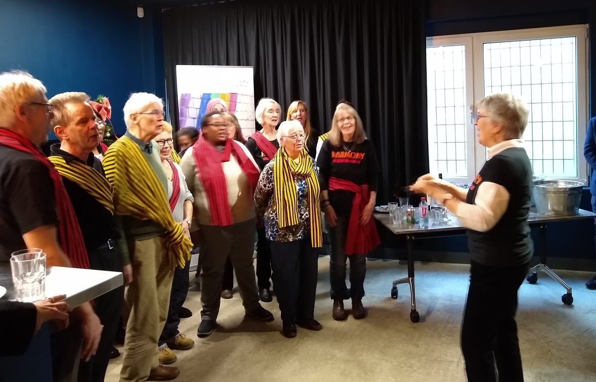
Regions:
<instances>
[{"instance_id":1,"label":"woman with short grey hair conducting the choir, facing left","mask_svg":"<svg viewBox=\"0 0 596 382\"><path fill-rule=\"evenodd\" d=\"M511 95L482 99L476 128L489 159L470 190L430 175L411 187L442 202L468 228L470 288L461 350L471 382L523 381L515 315L517 291L533 254L527 223L532 166L522 140L527 115L522 101Z\"/></svg>"}]
</instances>

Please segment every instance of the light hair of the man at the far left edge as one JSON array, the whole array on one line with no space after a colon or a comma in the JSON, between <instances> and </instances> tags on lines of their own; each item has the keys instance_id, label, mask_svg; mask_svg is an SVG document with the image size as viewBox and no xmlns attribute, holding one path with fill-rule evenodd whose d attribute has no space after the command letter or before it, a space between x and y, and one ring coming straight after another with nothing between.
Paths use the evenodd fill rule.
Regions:
<instances>
[{"instance_id":1,"label":"light hair of the man at the far left edge","mask_svg":"<svg viewBox=\"0 0 596 382\"><path fill-rule=\"evenodd\" d=\"M0 74L0 126L13 127L17 116L14 108L36 96L45 96L46 89L40 80L26 71L14 70Z\"/></svg>"}]
</instances>

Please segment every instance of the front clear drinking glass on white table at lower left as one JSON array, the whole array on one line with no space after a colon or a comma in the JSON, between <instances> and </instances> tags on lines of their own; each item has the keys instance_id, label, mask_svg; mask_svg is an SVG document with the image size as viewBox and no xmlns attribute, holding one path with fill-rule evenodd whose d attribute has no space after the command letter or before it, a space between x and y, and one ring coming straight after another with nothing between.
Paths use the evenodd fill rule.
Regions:
<instances>
[{"instance_id":1,"label":"front clear drinking glass on white table at lower left","mask_svg":"<svg viewBox=\"0 0 596 382\"><path fill-rule=\"evenodd\" d=\"M20 253L10 258L17 301L35 302L44 298L45 265L44 252Z\"/></svg>"}]
</instances>

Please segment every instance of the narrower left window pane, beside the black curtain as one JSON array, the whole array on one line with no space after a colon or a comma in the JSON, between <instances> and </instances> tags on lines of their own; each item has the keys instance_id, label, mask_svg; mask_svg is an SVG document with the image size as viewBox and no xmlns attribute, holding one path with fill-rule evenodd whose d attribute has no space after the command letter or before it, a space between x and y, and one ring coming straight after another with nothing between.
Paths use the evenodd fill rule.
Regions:
<instances>
[{"instance_id":1,"label":"narrower left window pane, beside the black curtain","mask_svg":"<svg viewBox=\"0 0 596 382\"><path fill-rule=\"evenodd\" d=\"M426 55L430 171L468 177L465 46L430 46Z\"/></svg>"}]
</instances>

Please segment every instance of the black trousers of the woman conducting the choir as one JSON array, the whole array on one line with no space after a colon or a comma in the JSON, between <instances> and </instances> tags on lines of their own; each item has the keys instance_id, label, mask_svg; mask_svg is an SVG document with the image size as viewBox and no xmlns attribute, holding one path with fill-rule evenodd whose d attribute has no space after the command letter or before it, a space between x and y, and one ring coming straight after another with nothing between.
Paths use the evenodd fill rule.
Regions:
<instances>
[{"instance_id":1,"label":"black trousers of the woman conducting the choir","mask_svg":"<svg viewBox=\"0 0 596 382\"><path fill-rule=\"evenodd\" d=\"M497 268L471 261L461 325L468 381L523 381L516 311L517 292L528 270L529 262Z\"/></svg>"}]
</instances>

